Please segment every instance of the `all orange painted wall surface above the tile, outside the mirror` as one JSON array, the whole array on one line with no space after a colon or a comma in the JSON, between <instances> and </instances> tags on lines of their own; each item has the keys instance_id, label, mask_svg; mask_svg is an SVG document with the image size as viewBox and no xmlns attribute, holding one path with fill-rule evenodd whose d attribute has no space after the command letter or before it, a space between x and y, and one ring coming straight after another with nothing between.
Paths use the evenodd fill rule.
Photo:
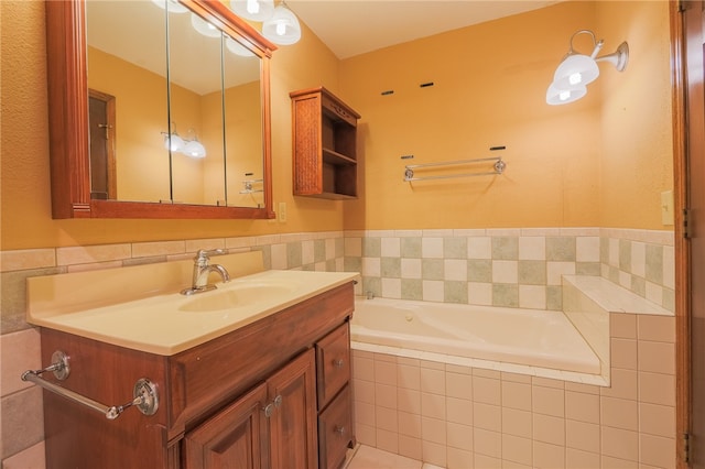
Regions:
<instances>
[{"instance_id":1,"label":"all orange painted wall surface above the tile, outside the mirror","mask_svg":"<svg viewBox=\"0 0 705 469\"><path fill-rule=\"evenodd\" d=\"M560 3L346 61L304 26L302 41L274 52L271 63L273 195L289 212L280 223L53 220L44 6L0 2L1 249L343 228L671 229L660 222L658 199L672 185L665 4ZM618 21L616 12L626 15ZM629 67L618 74L601 65L586 99L549 107L553 70L582 28L605 37L606 50L628 40ZM435 86L420 88L425 81ZM292 196L289 92L318 85L362 114L359 200ZM387 89L394 95L380 96ZM401 155L414 154L414 163L448 161L487 156L492 145L507 145L501 177L402 182Z\"/></svg>"}]
</instances>

